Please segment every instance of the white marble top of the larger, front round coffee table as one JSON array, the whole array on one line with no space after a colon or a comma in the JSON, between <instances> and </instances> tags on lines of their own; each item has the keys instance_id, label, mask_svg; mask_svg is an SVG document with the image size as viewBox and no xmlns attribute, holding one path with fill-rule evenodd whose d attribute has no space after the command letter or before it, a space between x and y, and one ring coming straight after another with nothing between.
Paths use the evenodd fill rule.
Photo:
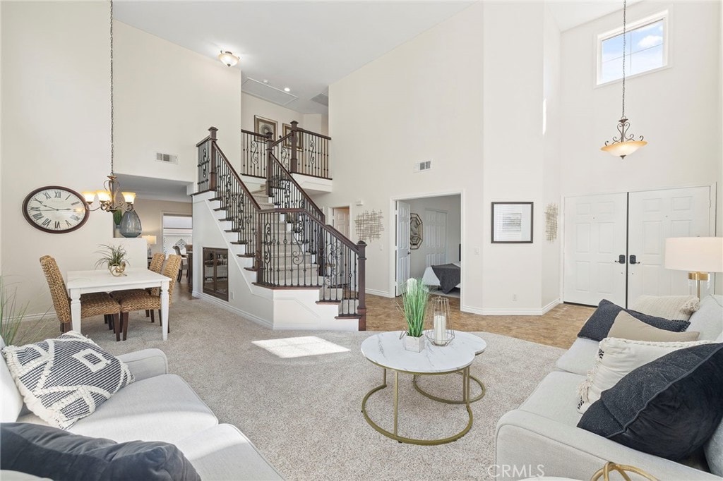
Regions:
<instances>
[{"instance_id":1,"label":"white marble top of the larger, front round coffee table","mask_svg":"<svg viewBox=\"0 0 723 481\"><path fill-rule=\"evenodd\" d=\"M450 345L435 346L425 336L424 350L413 352L404 349L400 334L382 332L367 337L361 343L361 354L382 368L413 374L453 373L470 365L476 355L471 342L463 342L466 337L456 344L455 337Z\"/></svg>"}]
</instances>

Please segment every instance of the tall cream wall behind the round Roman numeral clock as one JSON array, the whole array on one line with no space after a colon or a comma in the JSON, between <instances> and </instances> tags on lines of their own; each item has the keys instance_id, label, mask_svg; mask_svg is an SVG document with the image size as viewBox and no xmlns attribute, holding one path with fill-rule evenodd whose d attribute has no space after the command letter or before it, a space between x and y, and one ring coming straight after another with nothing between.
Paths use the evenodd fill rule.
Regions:
<instances>
[{"instance_id":1,"label":"tall cream wall behind the round Roman numeral clock","mask_svg":"<svg viewBox=\"0 0 723 481\"><path fill-rule=\"evenodd\" d=\"M42 313L52 303L40 256L63 271L93 269L93 252L113 235L105 212L67 234L35 229L21 212L35 188L100 188L108 174L108 4L4 1L2 9L0 265L19 300L30 301L28 313Z\"/></svg>"}]
</instances>

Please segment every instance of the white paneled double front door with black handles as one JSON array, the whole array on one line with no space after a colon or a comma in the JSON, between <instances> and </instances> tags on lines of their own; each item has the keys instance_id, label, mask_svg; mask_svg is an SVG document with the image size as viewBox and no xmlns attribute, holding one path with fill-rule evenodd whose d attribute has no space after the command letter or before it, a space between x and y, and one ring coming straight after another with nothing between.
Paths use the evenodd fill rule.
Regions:
<instances>
[{"instance_id":1,"label":"white paneled double front door with black handles","mask_svg":"<svg viewBox=\"0 0 723 481\"><path fill-rule=\"evenodd\" d=\"M687 274L664 269L665 239L712 235L712 205L709 186L566 198L563 300L688 294Z\"/></svg>"}]
</instances>

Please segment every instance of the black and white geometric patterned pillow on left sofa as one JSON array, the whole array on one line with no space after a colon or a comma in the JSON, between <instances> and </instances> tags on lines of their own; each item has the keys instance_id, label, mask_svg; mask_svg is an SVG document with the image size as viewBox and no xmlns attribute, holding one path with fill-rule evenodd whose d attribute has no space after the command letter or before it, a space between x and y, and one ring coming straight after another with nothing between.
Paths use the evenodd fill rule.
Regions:
<instances>
[{"instance_id":1,"label":"black and white geometric patterned pillow on left sofa","mask_svg":"<svg viewBox=\"0 0 723 481\"><path fill-rule=\"evenodd\" d=\"M2 354L27 408L67 429L133 382L128 366L78 332Z\"/></svg>"}]
</instances>

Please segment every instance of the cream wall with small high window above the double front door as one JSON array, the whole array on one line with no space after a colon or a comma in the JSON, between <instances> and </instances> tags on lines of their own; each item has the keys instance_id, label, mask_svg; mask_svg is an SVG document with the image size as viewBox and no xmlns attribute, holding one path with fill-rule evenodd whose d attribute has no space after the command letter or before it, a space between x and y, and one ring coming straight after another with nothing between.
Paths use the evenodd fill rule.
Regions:
<instances>
[{"instance_id":1,"label":"cream wall with small high window above the double front door","mask_svg":"<svg viewBox=\"0 0 723 481\"><path fill-rule=\"evenodd\" d=\"M563 195L721 180L720 8L714 1L642 1L628 7L628 22L669 9L672 66L626 80L631 131L649 143L625 160L599 150L617 134L621 82L595 86L596 35L619 27L622 12L562 34Z\"/></svg>"}]
</instances>

